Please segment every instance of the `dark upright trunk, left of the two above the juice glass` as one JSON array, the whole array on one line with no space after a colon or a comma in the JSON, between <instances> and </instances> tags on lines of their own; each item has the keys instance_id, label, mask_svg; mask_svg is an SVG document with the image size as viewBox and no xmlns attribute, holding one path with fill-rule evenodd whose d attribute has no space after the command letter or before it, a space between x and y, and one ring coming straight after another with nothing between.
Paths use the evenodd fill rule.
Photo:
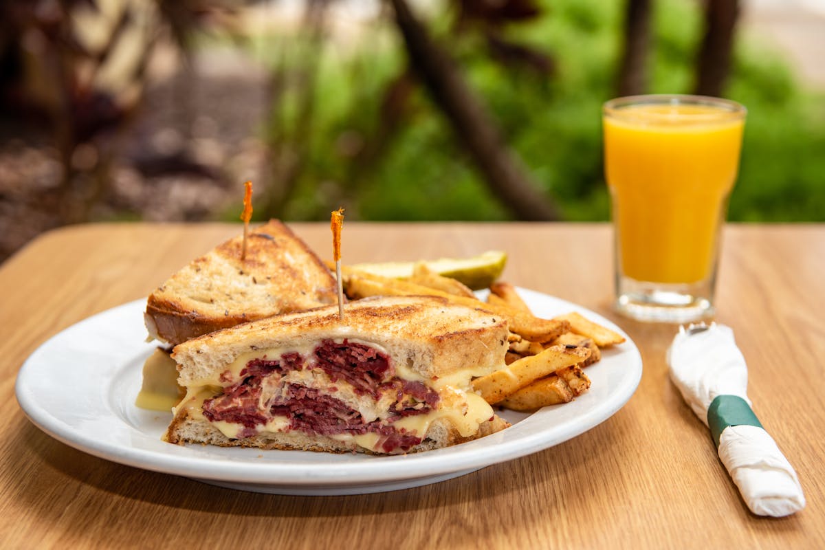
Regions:
<instances>
[{"instance_id":1,"label":"dark upright trunk, left of the two above the juice glass","mask_svg":"<svg viewBox=\"0 0 825 550\"><path fill-rule=\"evenodd\" d=\"M646 61L650 44L650 0L628 0L624 38L616 92L619 96L638 96L648 87Z\"/></svg>"}]
</instances>

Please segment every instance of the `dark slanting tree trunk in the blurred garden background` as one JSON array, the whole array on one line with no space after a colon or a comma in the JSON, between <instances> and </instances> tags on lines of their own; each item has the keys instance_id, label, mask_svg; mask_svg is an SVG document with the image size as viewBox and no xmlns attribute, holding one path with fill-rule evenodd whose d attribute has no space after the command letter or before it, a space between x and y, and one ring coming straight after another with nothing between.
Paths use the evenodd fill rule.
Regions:
<instances>
[{"instance_id":1,"label":"dark slanting tree trunk in the blurred garden background","mask_svg":"<svg viewBox=\"0 0 825 550\"><path fill-rule=\"evenodd\" d=\"M526 168L504 143L488 112L464 82L459 68L433 43L405 0L391 2L411 66L436 106L450 120L456 136L464 143L493 194L518 219L559 219L558 210L530 181Z\"/></svg>"}]
</instances>

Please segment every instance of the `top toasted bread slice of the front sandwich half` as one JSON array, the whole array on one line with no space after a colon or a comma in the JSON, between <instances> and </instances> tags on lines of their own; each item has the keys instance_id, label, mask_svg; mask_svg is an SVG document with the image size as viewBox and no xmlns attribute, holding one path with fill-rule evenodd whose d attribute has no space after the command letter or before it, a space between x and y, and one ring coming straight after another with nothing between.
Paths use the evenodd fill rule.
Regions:
<instances>
[{"instance_id":1,"label":"top toasted bread slice of the front sandwich half","mask_svg":"<svg viewBox=\"0 0 825 550\"><path fill-rule=\"evenodd\" d=\"M462 369L502 368L507 334L501 316L440 296L372 297L345 304L343 321L337 306L268 317L186 341L175 347L172 359L177 361L178 383L190 386L217 379L249 355L303 350L324 339L346 338L379 345L398 368L422 378L444 378Z\"/></svg>"}]
</instances>

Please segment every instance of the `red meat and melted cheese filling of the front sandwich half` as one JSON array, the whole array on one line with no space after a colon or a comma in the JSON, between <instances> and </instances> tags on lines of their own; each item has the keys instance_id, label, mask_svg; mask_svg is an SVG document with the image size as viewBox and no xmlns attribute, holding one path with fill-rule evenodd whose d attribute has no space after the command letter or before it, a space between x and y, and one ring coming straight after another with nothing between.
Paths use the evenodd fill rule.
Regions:
<instances>
[{"instance_id":1,"label":"red meat and melted cheese filling of the front sandwich half","mask_svg":"<svg viewBox=\"0 0 825 550\"><path fill-rule=\"evenodd\" d=\"M426 380L370 342L326 339L303 350L243 355L217 379L191 384L177 408L230 440L299 431L404 453L422 443L439 418L469 436L493 416L483 398L458 382Z\"/></svg>"}]
</instances>

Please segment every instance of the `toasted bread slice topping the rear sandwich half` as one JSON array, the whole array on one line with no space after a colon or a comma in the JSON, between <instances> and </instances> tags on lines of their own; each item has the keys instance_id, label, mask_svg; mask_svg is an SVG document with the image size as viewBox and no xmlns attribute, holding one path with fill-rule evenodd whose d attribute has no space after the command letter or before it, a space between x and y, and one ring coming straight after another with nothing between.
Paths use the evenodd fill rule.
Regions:
<instances>
[{"instance_id":1,"label":"toasted bread slice topping the rear sandwich half","mask_svg":"<svg viewBox=\"0 0 825 550\"><path fill-rule=\"evenodd\" d=\"M149 336L171 346L243 322L337 303L335 279L277 220L200 256L148 298Z\"/></svg>"}]
</instances>

